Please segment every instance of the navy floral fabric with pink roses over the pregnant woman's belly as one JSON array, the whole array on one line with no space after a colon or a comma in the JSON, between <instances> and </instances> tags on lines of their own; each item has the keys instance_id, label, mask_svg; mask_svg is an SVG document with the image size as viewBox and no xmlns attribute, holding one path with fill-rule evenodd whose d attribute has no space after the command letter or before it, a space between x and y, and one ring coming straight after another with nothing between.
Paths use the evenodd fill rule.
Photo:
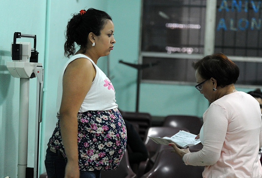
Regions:
<instances>
[{"instance_id":1,"label":"navy floral fabric with pink roses over the pregnant woman's belly","mask_svg":"<svg viewBox=\"0 0 262 178\"><path fill-rule=\"evenodd\" d=\"M59 114L57 118L55 131L47 146L60 150L66 159ZM77 120L79 169L116 169L124 155L127 139L125 123L118 109L78 113Z\"/></svg>"}]
</instances>

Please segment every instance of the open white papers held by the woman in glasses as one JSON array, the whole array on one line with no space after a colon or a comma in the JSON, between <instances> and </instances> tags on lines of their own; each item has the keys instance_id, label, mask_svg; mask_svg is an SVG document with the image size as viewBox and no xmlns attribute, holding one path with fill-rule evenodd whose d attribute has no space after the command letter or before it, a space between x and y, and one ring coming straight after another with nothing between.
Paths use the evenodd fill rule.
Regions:
<instances>
[{"instance_id":1,"label":"open white papers held by the woman in glasses","mask_svg":"<svg viewBox=\"0 0 262 178\"><path fill-rule=\"evenodd\" d=\"M172 137L148 137L158 144L168 145L169 143L174 143L181 148L186 148L187 146L197 145L200 143L200 139L195 139L195 134L186 131L179 131Z\"/></svg>"}]
</instances>

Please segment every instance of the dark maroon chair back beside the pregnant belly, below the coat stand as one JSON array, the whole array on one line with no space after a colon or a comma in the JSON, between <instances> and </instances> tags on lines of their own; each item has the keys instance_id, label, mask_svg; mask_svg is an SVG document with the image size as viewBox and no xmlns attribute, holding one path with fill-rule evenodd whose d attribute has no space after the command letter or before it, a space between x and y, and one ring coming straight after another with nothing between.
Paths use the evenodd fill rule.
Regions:
<instances>
[{"instance_id":1,"label":"dark maroon chair back beside the pregnant belly, below the coat stand","mask_svg":"<svg viewBox=\"0 0 262 178\"><path fill-rule=\"evenodd\" d=\"M145 112L125 112L120 111L123 119L129 121L131 124L138 124L138 134L144 140L146 131L152 124L152 116Z\"/></svg>"}]
</instances>

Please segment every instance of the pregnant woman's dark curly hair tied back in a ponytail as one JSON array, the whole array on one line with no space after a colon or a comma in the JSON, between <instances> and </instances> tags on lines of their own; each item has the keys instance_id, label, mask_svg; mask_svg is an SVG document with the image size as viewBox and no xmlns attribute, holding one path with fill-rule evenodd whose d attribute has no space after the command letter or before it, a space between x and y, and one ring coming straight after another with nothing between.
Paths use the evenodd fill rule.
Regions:
<instances>
[{"instance_id":1,"label":"pregnant woman's dark curly hair tied back in a ponytail","mask_svg":"<svg viewBox=\"0 0 262 178\"><path fill-rule=\"evenodd\" d=\"M88 48L88 35L93 32L96 36L100 35L107 20L112 18L104 11L94 8L84 10L82 13L75 13L67 23L65 31L65 56L70 57L75 54L75 43L84 47L84 51Z\"/></svg>"}]
</instances>

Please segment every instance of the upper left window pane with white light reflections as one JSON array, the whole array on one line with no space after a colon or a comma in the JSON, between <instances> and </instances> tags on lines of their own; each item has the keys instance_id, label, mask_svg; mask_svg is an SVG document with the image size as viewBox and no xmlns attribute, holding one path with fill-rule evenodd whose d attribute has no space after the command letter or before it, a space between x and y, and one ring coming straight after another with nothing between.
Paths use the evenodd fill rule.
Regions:
<instances>
[{"instance_id":1,"label":"upper left window pane with white light reflections","mask_svg":"<svg viewBox=\"0 0 262 178\"><path fill-rule=\"evenodd\" d=\"M144 0L144 52L203 53L206 1Z\"/></svg>"}]
</instances>

